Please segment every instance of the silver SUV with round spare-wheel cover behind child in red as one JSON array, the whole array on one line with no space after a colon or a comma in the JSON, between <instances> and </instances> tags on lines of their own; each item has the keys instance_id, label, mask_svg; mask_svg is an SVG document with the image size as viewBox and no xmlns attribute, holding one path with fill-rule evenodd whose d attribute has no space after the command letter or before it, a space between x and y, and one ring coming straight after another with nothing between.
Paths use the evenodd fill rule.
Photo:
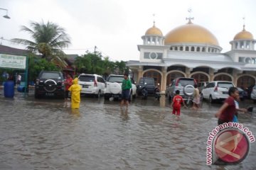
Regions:
<instances>
[{"instance_id":1,"label":"silver SUV with round spare-wheel cover behind child in red","mask_svg":"<svg viewBox=\"0 0 256 170\"><path fill-rule=\"evenodd\" d=\"M186 101L190 96L193 96L195 84L196 80L193 78L179 77L177 79L174 79L171 82L171 85L168 86L168 90L166 91L167 98L169 98L169 100L172 100L172 98L174 98L175 91L179 90L180 95Z\"/></svg>"}]
</instances>

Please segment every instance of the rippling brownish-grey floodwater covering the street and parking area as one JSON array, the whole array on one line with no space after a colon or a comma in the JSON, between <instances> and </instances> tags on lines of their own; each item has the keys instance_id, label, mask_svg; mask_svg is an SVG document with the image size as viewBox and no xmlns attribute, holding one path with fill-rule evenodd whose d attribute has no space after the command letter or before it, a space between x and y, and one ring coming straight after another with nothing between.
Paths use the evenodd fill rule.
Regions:
<instances>
[{"instance_id":1,"label":"rippling brownish-grey floodwater covering the street and parking area","mask_svg":"<svg viewBox=\"0 0 256 170\"><path fill-rule=\"evenodd\" d=\"M206 165L220 103L182 108L181 120L164 96L138 97L128 110L104 98L82 97L79 110L63 103L33 94L0 96L0 169L256 169L256 142L240 164ZM252 101L240 103L248 105ZM256 113L239 120L256 136Z\"/></svg>"}]
</instances>

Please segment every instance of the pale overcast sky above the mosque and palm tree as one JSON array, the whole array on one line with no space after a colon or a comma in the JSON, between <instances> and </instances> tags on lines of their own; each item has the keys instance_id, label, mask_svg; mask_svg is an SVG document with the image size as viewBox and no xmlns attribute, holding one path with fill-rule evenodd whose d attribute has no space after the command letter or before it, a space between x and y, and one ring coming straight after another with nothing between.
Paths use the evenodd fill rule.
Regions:
<instances>
[{"instance_id":1,"label":"pale overcast sky above the mosque and palm tree","mask_svg":"<svg viewBox=\"0 0 256 170\"><path fill-rule=\"evenodd\" d=\"M93 52L96 45L111 60L139 60L137 45L142 44L141 37L153 21L166 35L187 23L188 8L192 8L193 23L210 30L222 52L230 50L229 42L242 30L243 17L245 29L256 36L255 0L0 0L0 8L7 8L11 17L0 17L0 38L32 40L20 31L21 26L50 21L70 35L72 45L64 50L67 54ZM6 11L0 10L0 14L4 16Z\"/></svg>"}]
</instances>

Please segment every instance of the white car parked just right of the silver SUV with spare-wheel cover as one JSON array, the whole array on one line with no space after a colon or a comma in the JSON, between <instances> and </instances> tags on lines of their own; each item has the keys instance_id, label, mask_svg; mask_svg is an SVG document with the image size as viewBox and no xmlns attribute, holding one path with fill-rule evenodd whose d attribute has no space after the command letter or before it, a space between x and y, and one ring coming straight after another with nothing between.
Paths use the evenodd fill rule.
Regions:
<instances>
[{"instance_id":1,"label":"white car parked just right of the silver SUV with spare-wheel cover","mask_svg":"<svg viewBox=\"0 0 256 170\"><path fill-rule=\"evenodd\" d=\"M201 96L213 103L213 101L223 101L228 98L228 89L234 86L232 81L211 81L202 90Z\"/></svg>"}]
</instances>

